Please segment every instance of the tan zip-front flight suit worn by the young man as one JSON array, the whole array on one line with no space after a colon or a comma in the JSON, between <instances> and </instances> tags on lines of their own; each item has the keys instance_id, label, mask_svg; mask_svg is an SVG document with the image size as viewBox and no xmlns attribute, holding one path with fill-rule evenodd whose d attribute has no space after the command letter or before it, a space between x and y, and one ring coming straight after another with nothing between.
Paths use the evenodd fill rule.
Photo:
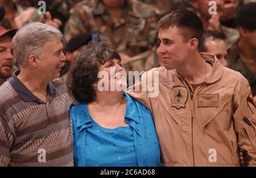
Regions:
<instances>
[{"instance_id":1,"label":"tan zip-front flight suit worn by the young man","mask_svg":"<svg viewBox=\"0 0 256 178\"><path fill-rule=\"evenodd\" d=\"M238 166L238 147L246 150L249 165L256 165L256 109L246 78L222 67L214 55L201 53L212 64L212 72L193 90L176 70L154 68L135 85L141 86L148 74L159 72L159 94L148 90L132 97L151 110L158 133L164 166Z\"/></svg>"}]
</instances>

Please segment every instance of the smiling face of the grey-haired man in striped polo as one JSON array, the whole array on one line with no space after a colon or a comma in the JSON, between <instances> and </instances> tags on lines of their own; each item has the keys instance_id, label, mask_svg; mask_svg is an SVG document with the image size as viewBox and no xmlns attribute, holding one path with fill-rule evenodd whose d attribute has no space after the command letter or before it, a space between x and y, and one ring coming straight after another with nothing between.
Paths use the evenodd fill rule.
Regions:
<instances>
[{"instance_id":1,"label":"smiling face of the grey-haired man in striped polo","mask_svg":"<svg viewBox=\"0 0 256 178\"><path fill-rule=\"evenodd\" d=\"M39 60L38 72L48 81L60 77L61 68L64 66L65 57L60 39L53 39L44 44L42 59Z\"/></svg>"}]
</instances>

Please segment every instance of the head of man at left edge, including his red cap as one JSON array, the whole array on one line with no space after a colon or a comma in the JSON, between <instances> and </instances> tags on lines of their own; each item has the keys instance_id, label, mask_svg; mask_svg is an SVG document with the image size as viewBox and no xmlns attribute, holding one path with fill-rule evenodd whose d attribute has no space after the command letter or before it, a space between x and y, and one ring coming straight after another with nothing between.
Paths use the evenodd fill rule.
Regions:
<instances>
[{"instance_id":1,"label":"head of man at left edge, including his red cap","mask_svg":"<svg viewBox=\"0 0 256 178\"><path fill-rule=\"evenodd\" d=\"M0 85L11 76L13 69L13 45L11 39L16 30L6 30L0 26Z\"/></svg>"}]
</instances>

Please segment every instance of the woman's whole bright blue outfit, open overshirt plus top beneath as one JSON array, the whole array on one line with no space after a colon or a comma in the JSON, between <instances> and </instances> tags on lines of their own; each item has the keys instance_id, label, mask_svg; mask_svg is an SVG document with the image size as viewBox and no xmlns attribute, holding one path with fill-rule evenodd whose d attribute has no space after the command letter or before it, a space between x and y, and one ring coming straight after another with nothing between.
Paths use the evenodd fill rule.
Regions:
<instances>
[{"instance_id":1,"label":"woman's whole bright blue outfit, open overshirt plus top beneath","mask_svg":"<svg viewBox=\"0 0 256 178\"><path fill-rule=\"evenodd\" d=\"M71 118L73 125L73 154L76 166L96 166L97 164L99 166L134 166L135 163L138 166L160 166L159 141L156 135L155 125L152 120L150 110L148 110L138 101L131 98L128 94L125 93L124 95L126 97L125 123L127 123L129 127L118 127L117 129L114 129L114 132L113 129L105 129L99 125L99 127L96 128L97 123L94 122L90 117L86 103L81 103L71 107ZM108 135L108 132L112 132L113 139L108 139L108 141L111 143L104 142L103 140L106 139L107 135L104 135L101 138L99 137L100 135L97 135L93 128L96 129L96 132L97 129L102 130L101 134L104 133ZM121 134L124 134L125 131L127 133L122 137ZM93 133L96 133L96 135L92 135ZM102 140L99 141L96 139L96 137L97 139ZM118 140L120 138L121 140ZM101 146L99 146L99 143ZM88 147L89 144L92 147ZM114 160L105 162L106 159L102 159L102 155L101 158L97 158L97 156L100 155L96 155L96 153L88 156L93 152L90 149L94 150L99 148L99 150L101 150L102 147L109 151L113 150L114 148L118 149L115 152L108 152L108 158L112 158L114 156ZM135 153L136 162L135 159L130 160L130 162L127 162L125 158L122 159L122 156L125 155L125 151L128 152L128 150L129 153L126 154L126 156L132 158L132 154ZM119 155L117 156L117 153L119 153L120 157ZM114 163L115 160L118 162ZM122 160L124 160L124 162L122 162Z\"/></svg>"}]
</instances>

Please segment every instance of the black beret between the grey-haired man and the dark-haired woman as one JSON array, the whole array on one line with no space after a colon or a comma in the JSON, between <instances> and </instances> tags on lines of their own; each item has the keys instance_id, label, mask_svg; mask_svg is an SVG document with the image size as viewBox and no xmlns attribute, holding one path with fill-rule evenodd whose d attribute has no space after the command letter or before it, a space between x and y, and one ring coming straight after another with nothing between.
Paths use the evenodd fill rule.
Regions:
<instances>
[{"instance_id":1,"label":"black beret between the grey-haired man and the dark-haired woman","mask_svg":"<svg viewBox=\"0 0 256 178\"><path fill-rule=\"evenodd\" d=\"M67 43L65 51L73 52L79 49L82 45L88 44L92 40L92 34L85 33L73 36Z\"/></svg>"}]
</instances>

